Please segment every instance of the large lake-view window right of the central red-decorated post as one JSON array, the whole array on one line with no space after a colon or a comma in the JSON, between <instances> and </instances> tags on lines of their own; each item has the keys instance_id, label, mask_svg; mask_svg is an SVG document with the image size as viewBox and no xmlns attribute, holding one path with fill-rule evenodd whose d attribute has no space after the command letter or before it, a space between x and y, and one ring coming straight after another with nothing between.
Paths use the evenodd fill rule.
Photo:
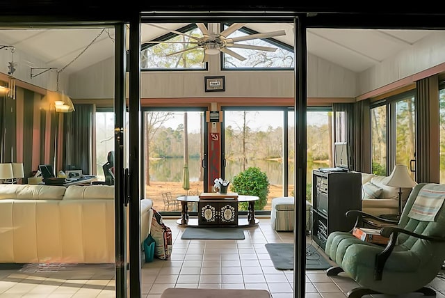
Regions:
<instances>
[{"instance_id":1,"label":"large lake-view window right of the central red-decorated post","mask_svg":"<svg viewBox=\"0 0 445 298\"><path fill-rule=\"evenodd\" d=\"M307 111L306 199L309 202L312 201L312 171L332 164L331 110L309 108ZM224 111L225 178L232 180L252 166L265 172L270 189L268 203L262 210L270 211L272 198L295 195L294 117L294 111L287 108L227 108Z\"/></svg>"}]
</instances>

